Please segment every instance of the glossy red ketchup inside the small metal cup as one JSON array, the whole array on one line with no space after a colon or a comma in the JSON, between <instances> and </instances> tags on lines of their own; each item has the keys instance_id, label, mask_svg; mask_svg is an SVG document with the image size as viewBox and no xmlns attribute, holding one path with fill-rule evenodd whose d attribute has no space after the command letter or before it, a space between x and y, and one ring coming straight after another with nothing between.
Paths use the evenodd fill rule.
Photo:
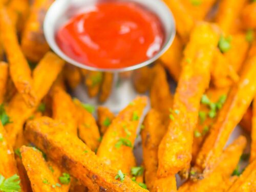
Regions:
<instances>
[{"instance_id":1,"label":"glossy red ketchup inside the small metal cup","mask_svg":"<svg viewBox=\"0 0 256 192\"><path fill-rule=\"evenodd\" d=\"M56 34L59 48L84 65L101 69L134 66L162 47L159 18L131 2L99 3L72 17Z\"/></svg>"}]
</instances>

